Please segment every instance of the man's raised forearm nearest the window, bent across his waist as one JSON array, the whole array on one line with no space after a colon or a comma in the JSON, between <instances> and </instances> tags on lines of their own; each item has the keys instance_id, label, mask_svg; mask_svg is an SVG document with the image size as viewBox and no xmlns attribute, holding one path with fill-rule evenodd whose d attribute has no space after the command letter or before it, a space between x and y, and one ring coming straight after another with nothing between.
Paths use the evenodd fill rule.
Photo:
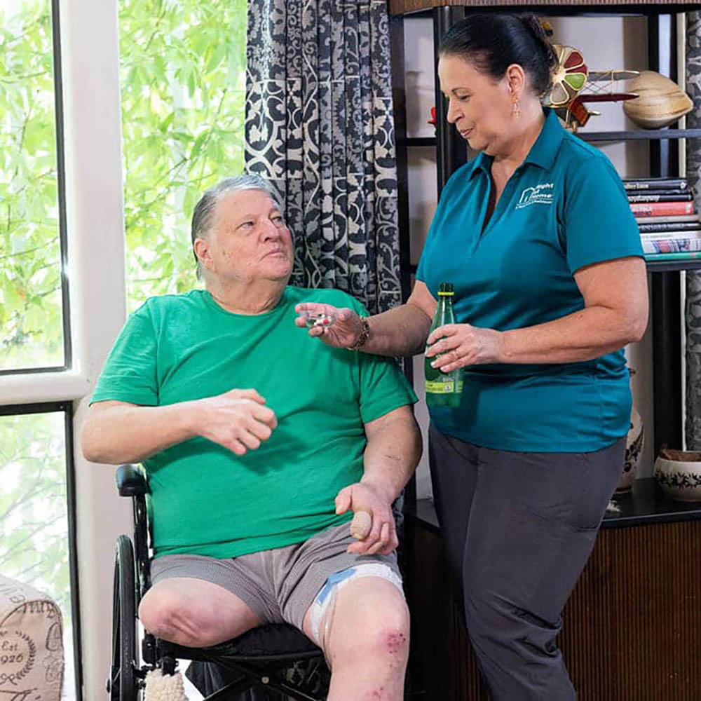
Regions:
<instances>
[{"instance_id":1,"label":"man's raised forearm nearest the window, bent across his waist","mask_svg":"<svg viewBox=\"0 0 701 701\"><path fill-rule=\"evenodd\" d=\"M93 463L138 463L192 438L189 402L140 407L123 402L94 404L83 424L81 447Z\"/></svg>"}]
</instances>

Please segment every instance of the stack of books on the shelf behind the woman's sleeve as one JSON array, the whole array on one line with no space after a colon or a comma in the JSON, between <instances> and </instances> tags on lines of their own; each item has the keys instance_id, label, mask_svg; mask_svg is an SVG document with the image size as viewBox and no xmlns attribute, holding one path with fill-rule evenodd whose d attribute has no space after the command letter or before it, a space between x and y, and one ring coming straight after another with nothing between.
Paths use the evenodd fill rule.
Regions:
<instances>
[{"instance_id":1,"label":"stack of books on the shelf behind the woman's sleeve","mask_svg":"<svg viewBox=\"0 0 701 701\"><path fill-rule=\"evenodd\" d=\"M646 259L701 257L701 222L686 178L627 179Z\"/></svg>"}]
</instances>

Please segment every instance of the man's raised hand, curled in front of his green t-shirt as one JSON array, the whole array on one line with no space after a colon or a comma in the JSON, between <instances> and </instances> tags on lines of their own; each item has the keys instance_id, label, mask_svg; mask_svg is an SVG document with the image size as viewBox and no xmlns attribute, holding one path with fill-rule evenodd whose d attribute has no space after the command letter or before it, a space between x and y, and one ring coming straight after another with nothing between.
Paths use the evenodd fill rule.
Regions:
<instances>
[{"instance_id":1,"label":"man's raised hand, curled in front of his green t-shirt","mask_svg":"<svg viewBox=\"0 0 701 701\"><path fill-rule=\"evenodd\" d=\"M278 426L272 409L264 404L256 390L230 390L191 402L196 433L244 455L259 448Z\"/></svg>"}]
</instances>

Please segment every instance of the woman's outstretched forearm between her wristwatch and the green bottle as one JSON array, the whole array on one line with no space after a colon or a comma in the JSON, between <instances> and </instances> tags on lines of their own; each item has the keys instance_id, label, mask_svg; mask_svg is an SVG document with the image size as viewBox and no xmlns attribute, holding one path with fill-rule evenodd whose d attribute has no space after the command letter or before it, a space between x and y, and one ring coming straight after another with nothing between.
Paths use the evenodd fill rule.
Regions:
<instances>
[{"instance_id":1,"label":"woman's outstretched forearm between her wristwatch and the green bottle","mask_svg":"<svg viewBox=\"0 0 701 701\"><path fill-rule=\"evenodd\" d=\"M402 304L369 317L370 335L361 350L374 355L423 353L431 318L418 306Z\"/></svg>"}]
</instances>

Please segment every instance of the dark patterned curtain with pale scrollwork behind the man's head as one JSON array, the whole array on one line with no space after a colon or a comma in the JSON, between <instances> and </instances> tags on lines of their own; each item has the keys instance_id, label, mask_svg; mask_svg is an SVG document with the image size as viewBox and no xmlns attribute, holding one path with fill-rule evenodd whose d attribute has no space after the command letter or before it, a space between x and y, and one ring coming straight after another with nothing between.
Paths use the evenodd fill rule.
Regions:
<instances>
[{"instance_id":1,"label":"dark patterned curtain with pale scrollwork behind the man's head","mask_svg":"<svg viewBox=\"0 0 701 701\"><path fill-rule=\"evenodd\" d=\"M246 170L285 205L292 283L400 304L386 0L251 0L245 134Z\"/></svg>"}]
</instances>

